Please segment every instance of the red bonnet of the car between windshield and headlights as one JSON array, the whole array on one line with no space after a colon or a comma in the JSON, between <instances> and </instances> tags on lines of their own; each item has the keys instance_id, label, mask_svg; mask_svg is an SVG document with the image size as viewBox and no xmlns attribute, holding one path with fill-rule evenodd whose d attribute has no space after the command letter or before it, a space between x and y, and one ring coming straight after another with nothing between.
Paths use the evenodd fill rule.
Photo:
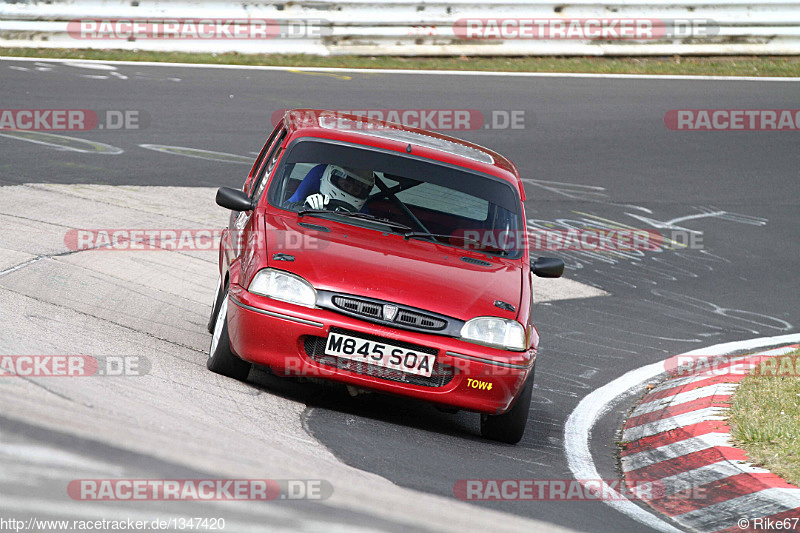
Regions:
<instances>
[{"instance_id":1,"label":"red bonnet of the car between windshield and headlights","mask_svg":"<svg viewBox=\"0 0 800 533\"><path fill-rule=\"evenodd\" d=\"M461 320L516 317L516 312L495 306L496 300L519 310L519 260L487 257L427 240L406 241L401 235L317 217L267 216L265 220L269 266L302 276L318 290L386 300ZM275 260L279 253L294 260Z\"/></svg>"}]
</instances>

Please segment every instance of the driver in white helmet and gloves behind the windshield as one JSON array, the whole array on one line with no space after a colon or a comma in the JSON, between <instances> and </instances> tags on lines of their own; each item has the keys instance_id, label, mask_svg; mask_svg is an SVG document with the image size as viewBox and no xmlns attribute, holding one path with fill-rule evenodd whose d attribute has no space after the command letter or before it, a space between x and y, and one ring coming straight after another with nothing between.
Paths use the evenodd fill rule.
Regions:
<instances>
[{"instance_id":1,"label":"driver in white helmet and gloves behind the windshield","mask_svg":"<svg viewBox=\"0 0 800 533\"><path fill-rule=\"evenodd\" d=\"M319 176L319 173L314 170L316 167L309 172L298 188L298 192L300 189L309 189L305 200L301 203L300 199L296 198L298 195L295 194L287 207L302 206L311 209L325 209L331 201L334 201L343 202L346 205L342 207L353 212L362 211L365 208L367 197L375 185L375 175L371 170L326 165L322 175L318 178L318 188L312 184L306 184L307 180L315 177L312 174ZM338 206L333 205L332 207Z\"/></svg>"}]
</instances>

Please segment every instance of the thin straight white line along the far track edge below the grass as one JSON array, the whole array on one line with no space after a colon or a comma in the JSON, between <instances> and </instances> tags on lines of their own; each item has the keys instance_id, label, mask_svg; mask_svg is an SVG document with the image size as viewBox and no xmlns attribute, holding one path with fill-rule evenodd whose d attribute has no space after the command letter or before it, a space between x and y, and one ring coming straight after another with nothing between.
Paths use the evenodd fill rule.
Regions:
<instances>
[{"instance_id":1,"label":"thin straight white line along the far track edge below the grass","mask_svg":"<svg viewBox=\"0 0 800 533\"><path fill-rule=\"evenodd\" d=\"M0 56L0 61L48 61L50 63L101 63L109 65L137 65L147 67L211 68L233 70L264 70L278 72L349 72L360 74L421 74L425 76L503 76L513 78L601 78L619 80L703 80L703 81L800 81L800 78L759 76L688 76L669 74L593 74L583 72L503 72L483 70L411 70L393 68L339 68L339 67L276 67L259 65L208 65L203 63L160 63L158 61L104 61L98 59L51 59L41 57Z\"/></svg>"}]
</instances>

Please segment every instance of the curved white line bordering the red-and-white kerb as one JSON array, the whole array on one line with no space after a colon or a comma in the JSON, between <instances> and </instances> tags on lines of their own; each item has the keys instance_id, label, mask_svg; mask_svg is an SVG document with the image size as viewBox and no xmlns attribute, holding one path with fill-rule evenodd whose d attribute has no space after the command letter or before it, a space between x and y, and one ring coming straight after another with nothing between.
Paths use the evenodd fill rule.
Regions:
<instances>
[{"instance_id":1,"label":"curved white line bordering the red-and-white kerb","mask_svg":"<svg viewBox=\"0 0 800 533\"><path fill-rule=\"evenodd\" d=\"M746 341L726 342L708 348L692 350L682 355L723 355L741 350L754 350L762 346L775 344L792 344L800 342L800 334L779 335L776 337L761 337ZM631 370L611 383L586 395L578 403L575 410L569 415L564 427L564 443L567 454L567 464L575 479L602 479L594 464L589 448L592 430L600 418L605 415L617 402L635 394L648 382L654 380L665 371L664 362L652 363L635 370ZM611 487L604 483L602 490L615 493ZM613 496L613 494L612 494ZM603 500L607 505L632 519L645 524L653 529L669 533L678 533L680 530L662 520L655 514L639 507L634 502L626 500L617 493L619 499Z\"/></svg>"}]
</instances>

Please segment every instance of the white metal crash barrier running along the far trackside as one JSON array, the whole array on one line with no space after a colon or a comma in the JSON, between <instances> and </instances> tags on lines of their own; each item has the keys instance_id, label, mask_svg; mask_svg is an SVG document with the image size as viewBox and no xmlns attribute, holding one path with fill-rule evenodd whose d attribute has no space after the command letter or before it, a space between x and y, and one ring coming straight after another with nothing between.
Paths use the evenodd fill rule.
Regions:
<instances>
[{"instance_id":1,"label":"white metal crash barrier running along the far trackside","mask_svg":"<svg viewBox=\"0 0 800 533\"><path fill-rule=\"evenodd\" d=\"M294 22L288 34L267 32L248 39L87 39L70 33L75 21L87 19L236 19L240 24L234 26L242 26L245 33L254 29L247 26L264 20ZM529 30L531 21L534 29L551 21L580 21L578 29L585 30L593 20L645 19L682 31L656 32L642 39L580 32L569 38L530 38L523 32L528 38L517 38L519 32L514 31L524 21ZM486 24L483 38L467 35L464 26L458 26L476 20ZM491 21L505 21L506 26L498 33ZM800 0L3 0L0 46L318 55L795 55L800 54Z\"/></svg>"}]
</instances>

